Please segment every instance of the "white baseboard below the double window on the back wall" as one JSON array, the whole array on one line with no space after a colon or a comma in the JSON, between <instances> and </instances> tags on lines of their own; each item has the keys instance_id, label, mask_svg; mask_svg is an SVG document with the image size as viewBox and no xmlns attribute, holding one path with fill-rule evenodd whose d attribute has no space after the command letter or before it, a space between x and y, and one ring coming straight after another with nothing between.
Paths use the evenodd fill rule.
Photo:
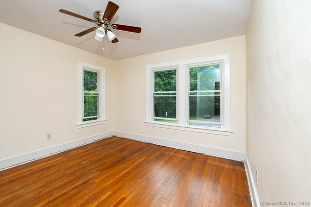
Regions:
<instances>
[{"instance_id":1,"label":"white baseboard below the double window on the back wall","mask_svg":"<svg viewBox=\"0 0 311 207\"><path fill-rule=\"evenodd\" d=\"M160 146L172 147L175 149L187 150L187 151L191 151L195 153L219 156L219 157L224 157L224 158L234 159L234 160L239 160L239 161L244 161L244 158L245 158L245 153L240 152L240 151L215 148L215 147L210 147L210 146L205 146L205 145L193 144L189 142L176 141L172 139L149 137L145 135L127 133L127 132L122 132L122 131L114 131L114 132L115 132L114 135L117 137L129 138L129 139L143 141L143 142L149 142L149 143L153 143L153 144L160 145Z\"/></svg>"}]
</instances>

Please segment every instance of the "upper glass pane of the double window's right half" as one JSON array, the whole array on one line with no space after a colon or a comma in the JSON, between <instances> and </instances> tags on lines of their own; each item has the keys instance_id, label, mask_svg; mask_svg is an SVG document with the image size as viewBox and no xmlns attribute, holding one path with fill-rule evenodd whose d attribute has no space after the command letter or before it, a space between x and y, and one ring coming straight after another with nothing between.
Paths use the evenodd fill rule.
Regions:
<instances>
[{"instance_id":1,"label":"upper glass pane of the double window's right half","mask_svg":"<svg viewBox=\"0 0 311 207\"><path fill-rule=\"evenodd\" d=\"M193 67L189 73L190 91L220 89L220 64Z\"/></svg>"}]
</instances>

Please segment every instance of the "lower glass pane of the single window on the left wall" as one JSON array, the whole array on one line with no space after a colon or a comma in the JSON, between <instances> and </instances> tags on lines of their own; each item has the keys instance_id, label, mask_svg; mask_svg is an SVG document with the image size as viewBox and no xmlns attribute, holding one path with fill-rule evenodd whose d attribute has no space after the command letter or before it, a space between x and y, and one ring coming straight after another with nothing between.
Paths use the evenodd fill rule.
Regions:
<instances>
[{"instance_id":1,"label":"lower glass pane of the single window on the left wall","mask_svg":"<svg viewBox=\"0 0 311 207\"><path fill-rule=\"evenodd\" d=\"M84 94L84 117L98 116L98 93Z\"/></svg>"}]
</instances>

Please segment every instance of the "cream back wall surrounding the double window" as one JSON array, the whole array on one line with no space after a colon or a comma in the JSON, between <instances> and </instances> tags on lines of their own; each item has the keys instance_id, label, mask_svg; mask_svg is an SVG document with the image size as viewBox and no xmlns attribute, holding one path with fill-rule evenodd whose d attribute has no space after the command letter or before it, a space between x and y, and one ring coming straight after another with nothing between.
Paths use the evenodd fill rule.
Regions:
<instances>
[{"instance_id":1,"label":"cream back wall surrounding the double window","mask_svg":"<svg viewBox=\"0 0 311 207\"><path fill-rule=\"evenodd\" d=\"M146 65L231 53L231 136L146 126ZM237 36L116 61L116 129L236 151L245 151L245 38Z\"/></svg>"}]
</instances>

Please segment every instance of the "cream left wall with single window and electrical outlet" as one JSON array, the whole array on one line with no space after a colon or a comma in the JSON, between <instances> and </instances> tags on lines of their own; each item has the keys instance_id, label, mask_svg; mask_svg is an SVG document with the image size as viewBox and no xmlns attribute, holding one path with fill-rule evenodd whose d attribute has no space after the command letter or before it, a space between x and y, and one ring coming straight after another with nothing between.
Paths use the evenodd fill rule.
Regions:
<instances>
[{"instance_id":1,"label":"cream left wall with single window and electrical outlet","mask_svg":"<svg viewBox=\"0 0 311 207\"><path fill-rule=\"evenodd\" d=\"M78 60L106 69L105 124L76 126ZM2 23L0 90L0 159L115 128L114 61Z\"/></svg>"}]
</instances>

